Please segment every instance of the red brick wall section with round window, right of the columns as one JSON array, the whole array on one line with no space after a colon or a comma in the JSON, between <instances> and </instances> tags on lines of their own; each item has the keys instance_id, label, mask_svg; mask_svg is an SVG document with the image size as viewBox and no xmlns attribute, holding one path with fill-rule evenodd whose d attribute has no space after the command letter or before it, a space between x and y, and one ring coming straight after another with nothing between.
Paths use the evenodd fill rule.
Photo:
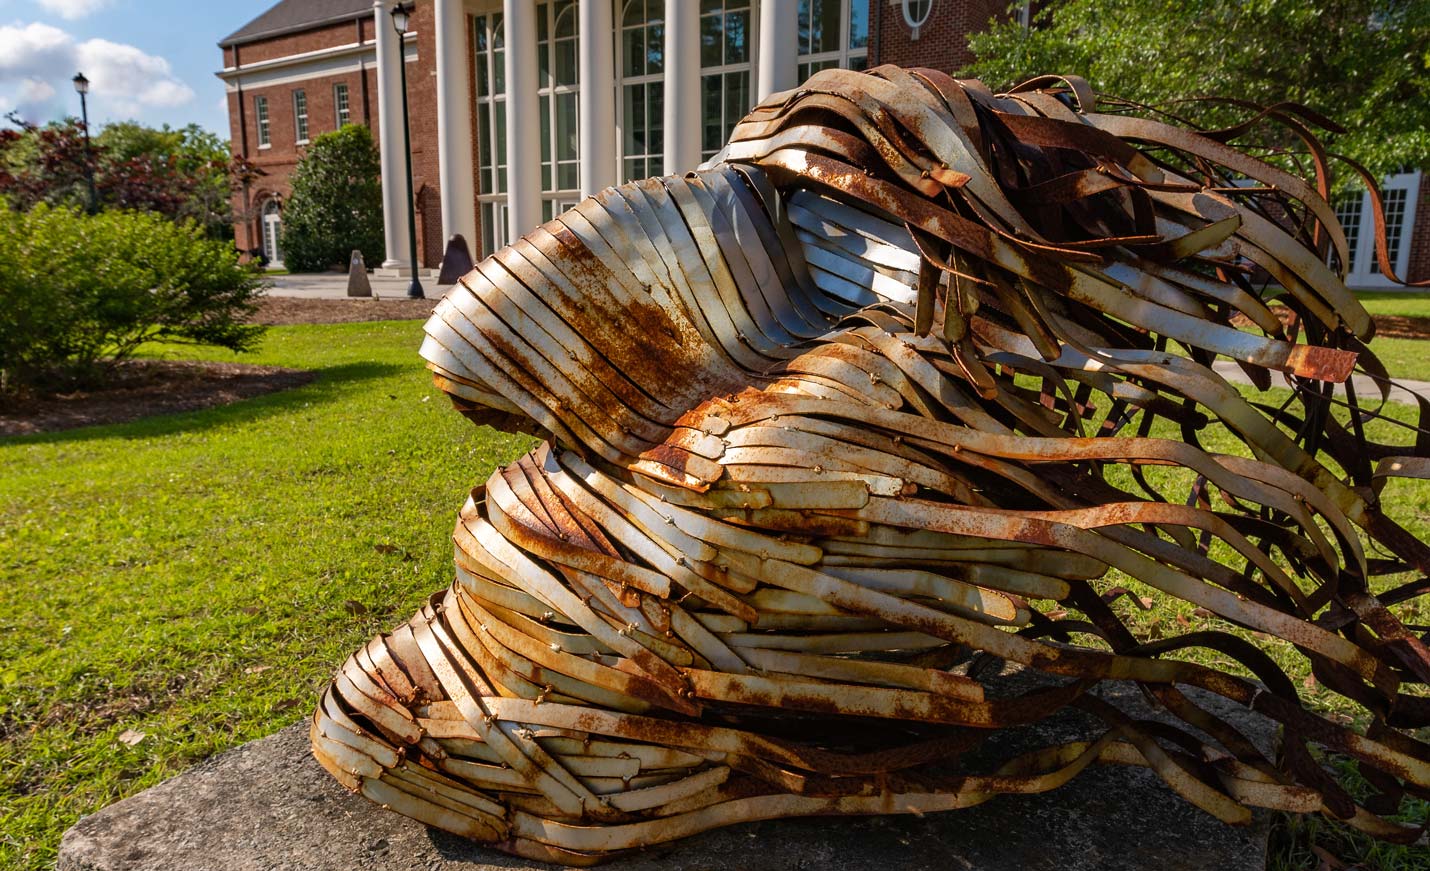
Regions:
<instances>
[{"instance_id":1,"label":"red brick wall section with round window, right of the columns","mask_svg":"<svg viewBox=\"0 0 1430 871\"><path fill-rule=\"evenodd\" d=\"M984 30L991 19L1007 16L1008 0L934 0L918 39L904 21L899 0L869 0L878 16L878 56L874 63L922 66L952 73L970 61L968 33Z\"/></svg>"}]
</instances>

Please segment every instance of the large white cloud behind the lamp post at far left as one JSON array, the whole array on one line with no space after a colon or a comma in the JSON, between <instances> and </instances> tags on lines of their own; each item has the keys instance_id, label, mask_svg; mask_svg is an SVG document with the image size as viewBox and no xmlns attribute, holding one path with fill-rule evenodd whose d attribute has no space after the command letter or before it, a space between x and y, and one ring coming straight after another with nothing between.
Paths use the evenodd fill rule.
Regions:
<instances>
[{"instance_id":1,"label":"large white cloud behind the lamp post at far left","mask_svg":"<svg viewBox=\"0 0 1430 871\"><path fill-rule=\"evenodd\" d=\"M73 113L56 97L67 99L76 72L90 80L90 106L109 117L182 106L194 96L174 77L167 60L134 46L104 39L79 41L39 21L0 26L0 106L31 120Z\"/></svg>"}]
</instances>

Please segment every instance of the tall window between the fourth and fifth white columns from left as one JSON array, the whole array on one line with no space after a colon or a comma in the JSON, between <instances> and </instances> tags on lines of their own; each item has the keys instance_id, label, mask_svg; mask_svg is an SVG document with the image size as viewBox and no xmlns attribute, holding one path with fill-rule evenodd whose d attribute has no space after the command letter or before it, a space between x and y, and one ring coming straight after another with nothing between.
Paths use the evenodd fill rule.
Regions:
<instances>
[{"instance_id":1,"label":"tall window between the fourth and fifth white columns from left","mask_svg":"<svg viewBox=\"0 0 1430 871\"><path fill-rule=\"evenodd\" d=\"M593 0L599 1L599 0ZM661 174L665 152L665 0L615 0L621 180Z\"/></svg>"}]
</instances>

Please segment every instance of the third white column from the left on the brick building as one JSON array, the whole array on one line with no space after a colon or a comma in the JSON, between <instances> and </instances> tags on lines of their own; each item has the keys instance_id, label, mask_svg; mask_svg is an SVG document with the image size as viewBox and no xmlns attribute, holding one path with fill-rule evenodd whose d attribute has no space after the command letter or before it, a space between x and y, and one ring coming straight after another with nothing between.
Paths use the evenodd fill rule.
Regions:
<instances>
[{"instance_id":1,"label":"third white column from the left on the brick building","mask_svg":"<svg viewBox=\"0 0 1430 871\"><path fill-rule=\"evenodd\" d=\"M516 239L541 225L536 4L533 0L503 0L502 10L506 21L506 210L512 239Z\"/></svg>"}]
</instances>

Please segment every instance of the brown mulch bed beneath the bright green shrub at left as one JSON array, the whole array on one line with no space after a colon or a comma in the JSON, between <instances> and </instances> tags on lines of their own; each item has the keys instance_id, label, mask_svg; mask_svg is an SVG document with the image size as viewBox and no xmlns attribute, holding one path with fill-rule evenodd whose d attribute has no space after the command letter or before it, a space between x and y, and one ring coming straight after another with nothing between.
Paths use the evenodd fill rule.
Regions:
<instances>
[{"instance_id":1,"label":"brown mulch bed beneath the bright green shrub at left","mask_svg":"<svg viewBox=\"0 0 1430 871\"><path fill-rule=\"evenodd\" d=\"M193 412L306 385L313 378L313 372L282 366L126 360L99 389L0 400L0 436Z\"/></svg>"}]
</instances>

